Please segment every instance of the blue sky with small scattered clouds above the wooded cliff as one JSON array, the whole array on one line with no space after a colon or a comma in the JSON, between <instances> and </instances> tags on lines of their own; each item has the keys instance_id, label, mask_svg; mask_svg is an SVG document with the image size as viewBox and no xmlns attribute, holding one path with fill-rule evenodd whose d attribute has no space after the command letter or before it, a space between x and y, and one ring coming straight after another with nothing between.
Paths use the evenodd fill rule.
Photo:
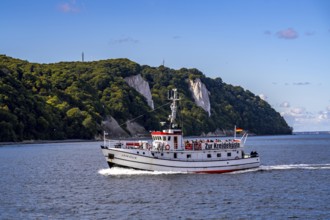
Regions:
<instances>
[{"instance_id":1,"label":"blue sky with small scattered clouds above the wooded cliff","mask_svg":"<svg viewBox=\"0 0 330 220\"><path fill-rule=\"evenodd\" d=\"M260 95L294 131L330 131L328 0L3 0L0 27L0 54L164 60Z\"/></svg>"}]
</instances>

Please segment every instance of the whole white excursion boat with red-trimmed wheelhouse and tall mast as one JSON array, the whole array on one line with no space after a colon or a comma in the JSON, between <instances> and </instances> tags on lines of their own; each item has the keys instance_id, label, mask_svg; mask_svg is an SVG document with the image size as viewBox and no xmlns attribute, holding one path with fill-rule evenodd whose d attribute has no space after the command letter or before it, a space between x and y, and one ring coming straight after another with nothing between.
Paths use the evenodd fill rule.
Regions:
<instances>
[{"instance_id":1,"label":"whole white excursion boat with red-trimmed wheelhouse and tall mast","mask_svg":"<svg viewBox=\"0 0 330 220\"><path fill-rule=\"evenodd\" d=\"M247 138L206 140L184 139L182 130L175 123L179 100L176 89L169 94L172 100L169 116L170 127L163 131L151 132L152 141L109 140L101 146L102 153L110 168L127 167L149 171L172 171L188 173L225 173L260 166L257 152L244 153Z\"/></svg>"}]
</instances>

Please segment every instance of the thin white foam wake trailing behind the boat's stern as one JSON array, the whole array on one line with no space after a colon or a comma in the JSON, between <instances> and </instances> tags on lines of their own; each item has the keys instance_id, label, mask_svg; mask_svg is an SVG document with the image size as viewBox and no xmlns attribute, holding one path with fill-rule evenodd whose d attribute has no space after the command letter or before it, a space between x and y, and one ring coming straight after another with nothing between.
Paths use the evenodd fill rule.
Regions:
<instances>
[{"instance_id":1,"label":"thin white foam wake trailing behind the boat's stern","mask_svg":"<svg viewBox=\"0 0 330 220\"><path fill-rule=\"evenodd\" d=\"M324 170L330 169L330 164L285 164L285 165L270 165L260 166L255 169L236 171L231 174L249 173L256 171L272 171L272 170Z\"/></svg>"}]
</instances>

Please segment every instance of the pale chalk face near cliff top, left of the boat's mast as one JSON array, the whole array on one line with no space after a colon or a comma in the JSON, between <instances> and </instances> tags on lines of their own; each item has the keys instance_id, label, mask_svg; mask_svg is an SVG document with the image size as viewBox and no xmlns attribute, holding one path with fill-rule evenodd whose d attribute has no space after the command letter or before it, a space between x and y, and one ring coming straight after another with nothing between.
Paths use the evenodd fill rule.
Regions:
<instances>
[{"instance_id":1,"label":"pale chalk face near cliff top, left of the boat's mast","mask_svg":"<svg viewBox=\"0 0 330 220\"><path fill-rule=\"evenodd\" d=\"M125 81L130 87L133 87L141 95L143 95L148 102L150 108L154 109L154 101L152 100L149 83L145 81L140 74L126 77Z\"/></svg>"}]
</instances>

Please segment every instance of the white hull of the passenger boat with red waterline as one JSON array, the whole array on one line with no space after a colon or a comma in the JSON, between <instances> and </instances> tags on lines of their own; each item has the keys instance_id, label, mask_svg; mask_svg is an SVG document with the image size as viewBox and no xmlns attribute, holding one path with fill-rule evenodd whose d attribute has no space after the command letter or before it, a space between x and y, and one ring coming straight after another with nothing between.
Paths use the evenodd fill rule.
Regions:
<instances>
[{"instance_id":1,"label":"white hull of the passenger boat with red waterline","mask_svg":"<svg viewBox=\"0 0 330 220\"><path fill-rule=\"evenodd\" d=\"M109 167L120 166L139 170L188 173L226 173L260 166L259 157L226 160L165 159L149 150L102 148ZM166 154L192 154L194 152L165 152Z\"/></svg>"}]
</instances>

